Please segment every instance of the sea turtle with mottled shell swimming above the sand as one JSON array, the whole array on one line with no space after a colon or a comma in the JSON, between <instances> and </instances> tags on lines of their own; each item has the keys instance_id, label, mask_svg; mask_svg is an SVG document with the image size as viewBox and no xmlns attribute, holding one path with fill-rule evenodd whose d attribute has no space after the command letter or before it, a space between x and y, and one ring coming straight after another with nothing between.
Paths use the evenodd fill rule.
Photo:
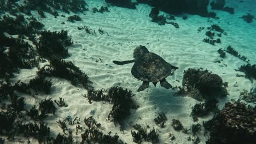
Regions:
<instances>
[{"instance_id":1,"label":"sea turtle with mottled shell swimming above the sand","mask_svg":"<svg viewBox=\"0 0 256 144\"><path fill-rule=\"evenodd\" d=\"M172 88L172 85L166 81L166 77L178 69L173 65L167 63L163 58L153 52L149 52L147 47L138 46L133 51L133 60L130 61L113 61L118 65L133 63L131 73L138 79L143 81L139 91L149 87L149 82L153 82L154 86L160 81L160 85L166 89Z\"/></svg>"}]
</instances>

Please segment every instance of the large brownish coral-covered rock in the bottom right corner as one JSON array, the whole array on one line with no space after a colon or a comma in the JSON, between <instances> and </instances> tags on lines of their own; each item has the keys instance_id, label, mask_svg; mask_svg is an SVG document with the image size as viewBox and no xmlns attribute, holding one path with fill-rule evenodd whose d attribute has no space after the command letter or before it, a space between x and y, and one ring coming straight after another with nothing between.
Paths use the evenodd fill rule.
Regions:
<instances>
[{"instance_id":1,"label":"large brownish coral-covered rock in the bottom right corner","mask_svg":"<svg viewBox=\"0 0 256 144\"><path fill-rule=\"evenodd\" d=\"M224 109L203 127L210 131L207 144L254 143L256 141L256 109L243 103L226 103Z\"/></svg>"}]
</instances>

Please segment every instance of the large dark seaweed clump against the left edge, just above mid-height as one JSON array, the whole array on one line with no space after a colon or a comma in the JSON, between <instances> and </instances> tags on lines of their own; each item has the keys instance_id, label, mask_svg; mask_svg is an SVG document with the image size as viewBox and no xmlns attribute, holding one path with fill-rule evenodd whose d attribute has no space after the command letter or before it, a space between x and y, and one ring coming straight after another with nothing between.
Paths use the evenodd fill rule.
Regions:
<instances>
[{"instance_id":1,"label":"large dark seaweed clump against the left edge, just above mid-height","mask_svg":"<svg viewBox=\"0 0 256 144\"><path fill-rule=\"evenodd\" d=\"M32 46L24 40L7 38L0 33L0 45L0 77L7 78L19 68L31 69L38 65Z\"/></svg>"}]
</instances>

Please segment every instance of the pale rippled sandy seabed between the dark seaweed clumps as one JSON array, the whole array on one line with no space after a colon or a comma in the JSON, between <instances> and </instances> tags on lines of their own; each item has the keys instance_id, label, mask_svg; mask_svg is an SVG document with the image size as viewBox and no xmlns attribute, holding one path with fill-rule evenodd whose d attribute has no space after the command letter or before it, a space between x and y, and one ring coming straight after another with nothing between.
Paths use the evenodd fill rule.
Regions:
<instances>
[{"instance_id":1,"label":"pale rippled sandy seabed between the dark seaweed clumps","mask_svg":"<svg viewBox=\"0 0 256 144\"><path fill-rule=\"evenodd\" d=\"M125 119L124 131L120 131L120 125L114 126L113 122L106 122L109 111L112 105L103 102L93 101L89 104L88 99L82 95L87 94L87 90L82 87L75 87L69 81L49 77L53 79L53 86L51 87L51 94L39 94L35 98L21 94L26 99L25 109L30 109L34 104L43 99L53 98L59 100L59 97L65 99L68 107L57 107L56 114L49 115L44 119L44 122L51 128L51 135L56 136L62 133L62 129L58 127L56 121L63 120L67 116L75 118L78 116L80 119L84 117L93 116L98 123L101 123L100 130L104 134L112 131L112 134L117 133L119 139L126 143L132 142L131 130L132 125L141 124L143 126L149 125L150 129L158 129L159 143L193 143L188 141L188 137L192 137L192 133L183 134L180 131L175 131L171 124L172 119L179 119L184 128L191 128L192 124L207 121L212 117L199 118L198 122L193 122L190 117L191 107L196 103L200 103L190 97L174 97L172 89L165 89L160 87L160 83L154 87L150 83L148 89L142 92L137 92L142 81L135 79L131 74L133 64L115 65L112 61L125 61L131 60L133 49L139 45L144 45L150 52L164 58L168 63L179 67L174 72L173 76L167 77L167 81L172 86L182 86L183 71L188 68L203 68L212 71L222 77L224 82L229 83L228 97L219 99L219 108L221 109L227 101L237 100L240 92L243 89L249 91L251 87L255 87L255 82L252 83L245 77L236 77L236 74L241 74L236 71L240 65L246 62L231 56L227 53L226 58L221 63L214 63L214 60L220 59L218 49L226 48L231 45L241 55L245 55L253 64L256 62L256 22L247 23L240 19L242 15L251 13L256 15L255 9L251 9L252 2L243 2L239 5L235 2L227 2L226 5L235 8L235 14L231 15L225 11L213 10L220 17L219 20L208 19L198 15L184 14L176 16L176 21L180 28L174 28L172 25L166 24L159 26L157 23L151 22L148 14L152 7L146 4L136 5L137 9L125 9L119 7L109 7L110 13L92 13L92 8L100 8L102 5L107 5L104 1L89 1L87 0L89 11L79 16L83 21L76 21L74 23L67 22L67 17L71 14L61 13L66 17L58 16L57 19L53 15L45 13L46 18L42 19L45 29L49 31L61 31L65 29L68 31L74 41L74 44L69 47L68 52L70 57L65 61L72 61L84 73L90 76L95 89L108 89L113 86L121 86L130 89L135 96L132 97L133 101L139 105L137 110L132 110L131 115ZM254 2L255 3L255 2ZM251 6L250 6L251 5ZM212 10L211 10L212 11ZM160 12L160 14L165 14ZM32 11L33 16L39 15L36 11ZM165 14L167 15L167 14ZM183 16L188 16L188 20L183 20ZM167 20L173 21L173 20ZM65 25L61 25L65 22ZM204 43L202 40L206 38L205 32L207 27L217 24L228 33L228 36L222 35L220 39L222 44L215 46ZM96 31L96 35L88 34L83 30L78 30L77 27L88 26ZM201 32L198 32L199 27L205 27ZM98 28L108 34L99 34ZM47 63L42 63L41 66ZM25 80L28 82L36 76L37 69L33 70L20 70L20 73L15 74L12 79L13 82L18 80ZM154 118L158 113L164 112L167 117L166 127L160 128L154 123ZM75 131L75 125L67 125L68 130ZM148 129L149 131L149 129ZM173 133L176 140L171 141L168 133ZM205 143L208 136L203 136L204 130L197 133L201 142ZM73 134L74 141L80 141L80 133ZM37 140L30 139L31 143L37 143ZM6 143L13 143L13 141ZM16 139L16 143L26 143L27 139ZM147 142L143 142L147 143Z\"/></svg>"}]
</instances>

